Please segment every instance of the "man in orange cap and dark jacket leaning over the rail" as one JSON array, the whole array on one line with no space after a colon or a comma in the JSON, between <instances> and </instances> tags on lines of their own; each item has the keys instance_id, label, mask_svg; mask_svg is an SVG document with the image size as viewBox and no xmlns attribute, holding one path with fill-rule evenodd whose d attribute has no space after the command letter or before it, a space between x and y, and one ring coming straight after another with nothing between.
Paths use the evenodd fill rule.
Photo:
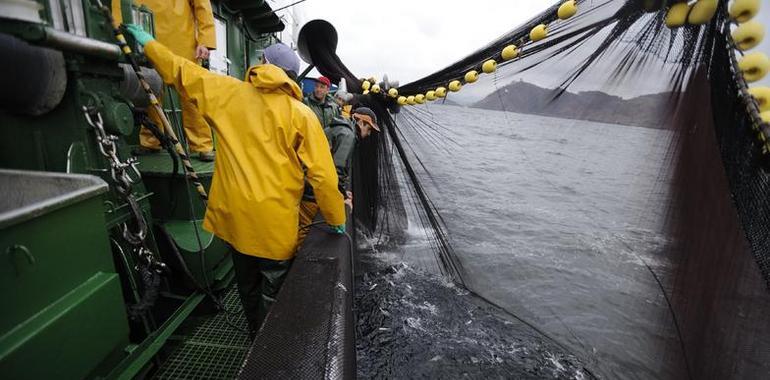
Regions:
<instances>
[{"instance_id":1,"label":"man in orange cap and dark jacket leaning over the rail","mask_svg":"<svg viewBox=\"0 0 770 380\"><path fill-rule=\"evenodd\" d=\"M334 157L334 166L337 168L339 190L345 195L345 204L351 209L353 208L353 192L350 176L353 151L358 140L369 137L372 131L379 132L380 127L377 125L377 115L367 107L358 107L353 110L351 120L341 117L333 119L325 131ZM305 194L300 204L299 216L300 244L308 234L306 226L313 223L313 219L318 214L319 205L316 203L314 188L312 183L305 183Z\"/></svg>"}]
</instances>

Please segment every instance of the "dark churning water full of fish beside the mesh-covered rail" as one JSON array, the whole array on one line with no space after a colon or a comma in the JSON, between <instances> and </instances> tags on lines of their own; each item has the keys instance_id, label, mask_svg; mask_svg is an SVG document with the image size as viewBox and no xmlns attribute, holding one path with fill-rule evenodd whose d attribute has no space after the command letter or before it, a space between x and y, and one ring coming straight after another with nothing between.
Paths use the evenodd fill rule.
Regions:
<instances>
[{"instance_id":1,"label":"dark churning water full of fish beside the mesh-covered rail","mask_svg":"<svg viewBox=\"0 0 770 380\"><path fill-rule=\"evenodd\" d=\"M592 377L568 349L405 264L364 275L356 305L362 379Z\"/></svg>"}]
</instances>

